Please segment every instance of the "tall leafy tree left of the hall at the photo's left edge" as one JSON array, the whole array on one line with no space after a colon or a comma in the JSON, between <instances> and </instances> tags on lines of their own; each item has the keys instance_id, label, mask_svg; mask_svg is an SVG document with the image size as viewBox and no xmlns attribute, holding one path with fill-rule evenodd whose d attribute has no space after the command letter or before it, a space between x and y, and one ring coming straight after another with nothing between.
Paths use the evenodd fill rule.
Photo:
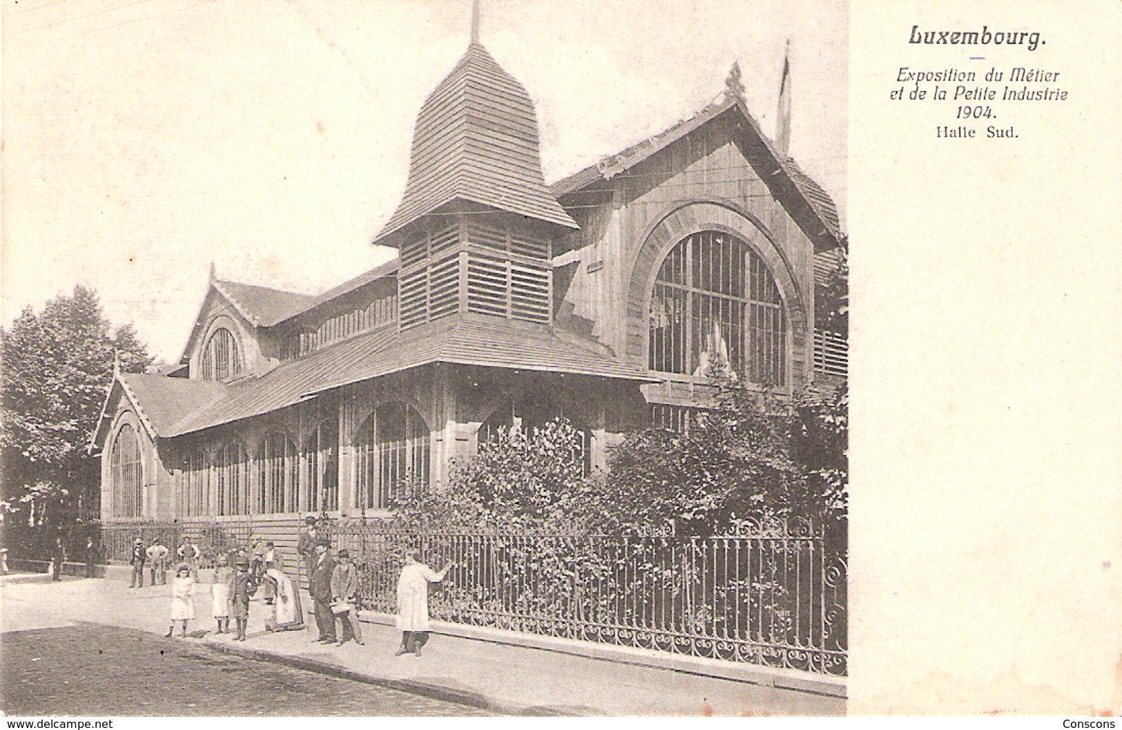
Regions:
<instances>
[{"instance_id":1,"label":"tall leafy tree left of the hall at the photo's left edge","mask_svg":"<svg viewBox=\"0 0 1122 730\"><path fill-rule=\"evenodd\" d=\"M17 548L96 517L99 462L86 446L114 354L122 372L141 373L151 363L146 349L131 326L111 331L96 293L81 285L0 328L0 510Z\"/></svg>"}]
</instances>

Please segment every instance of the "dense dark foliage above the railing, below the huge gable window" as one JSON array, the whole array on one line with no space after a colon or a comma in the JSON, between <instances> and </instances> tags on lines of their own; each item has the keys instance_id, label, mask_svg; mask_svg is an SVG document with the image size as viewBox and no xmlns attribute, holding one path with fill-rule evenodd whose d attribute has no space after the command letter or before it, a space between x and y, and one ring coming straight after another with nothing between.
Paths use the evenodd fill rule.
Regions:
<instances>
[{"instance_id":1,"label":"dense dark foliage above the railing, below the huge gable window","mask_svg":"<svg viewBox=\"0 0 1122 730\"><path fill-rule=\"evenodd\" d=\"M680 533L708 535L746 518L845 522L848 401L845 390L793 403L735 381L715 381L714 408L681 434L628 434L609 453L604 494L634 501L627 519L672 519Z\"/></svg>"}]
</instances>

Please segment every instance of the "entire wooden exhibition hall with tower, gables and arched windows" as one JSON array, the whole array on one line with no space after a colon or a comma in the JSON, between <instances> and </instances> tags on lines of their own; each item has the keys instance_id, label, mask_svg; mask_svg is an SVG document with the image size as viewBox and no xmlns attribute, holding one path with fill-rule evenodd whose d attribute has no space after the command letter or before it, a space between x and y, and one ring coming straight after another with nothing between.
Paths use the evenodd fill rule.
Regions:
<instances>
[{"instance_id":1,"label":"entire wooden exhibition hall with tower, gables and arched windows","mask_svg":"<svg viewBox=\"0 0 1122 730\"><path fill-rule=\"evenodd\" d=\"M385 514L502 429L563 416L595 468L628 430L681 426L714 375L835 384L845 343L815 301L837 211L737 86L546 184L533 102L472 43L417 116L374 241L394 261L318 296L212 275L178 366L116 374L102 520L294 535L307 512Z\"/></svg>"}]
</instances>

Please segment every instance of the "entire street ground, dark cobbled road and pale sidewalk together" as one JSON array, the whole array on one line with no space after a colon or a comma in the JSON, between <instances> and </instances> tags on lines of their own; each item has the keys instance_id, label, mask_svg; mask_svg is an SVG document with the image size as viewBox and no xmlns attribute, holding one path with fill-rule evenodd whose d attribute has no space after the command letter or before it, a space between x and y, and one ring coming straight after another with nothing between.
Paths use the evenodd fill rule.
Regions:
<instances>
[{"instance_id":1,"label":"entire street ground, dark cobbled road and pale sidewalk together","mask_svg":"<svg viewBox=\"0 0 1122 730\"><path fill-rule=\"evenodd\" d=\"M268 610L259 601L250 605L249 640L234 642L215 635L206 615L209 572L188 638L164 639L169 586L130 590L127 569L110 573L58 583L45 575L0 576L0 710L196 717L845 712L844 697L813 688L701 674L712 661L677 672L643 666L645 655L636 651L619 654L623 660L581 656L576 651L586 645L576 641L554 640L557 650L542 650L443 632L434 633L424 656L399 657L401 632L392 621L368 621L365 646L324 646L311 641L312 628L266 632ZM789 675L775 677L792 681Z\"/></svg>"}]
</instances>

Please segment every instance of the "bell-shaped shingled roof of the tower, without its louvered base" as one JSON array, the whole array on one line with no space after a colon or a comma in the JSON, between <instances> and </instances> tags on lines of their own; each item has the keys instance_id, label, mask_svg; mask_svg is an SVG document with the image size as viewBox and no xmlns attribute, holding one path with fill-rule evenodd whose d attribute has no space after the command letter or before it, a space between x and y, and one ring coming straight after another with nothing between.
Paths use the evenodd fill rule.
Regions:
<instances>
[{"instance_id":1,"label":"bell-shaped shingled roof of the tower, without its louvered base","mask_svg":"<svg viewBox=\"0 0 1122 730\"><path fill-rule=\"evenodd\" d=\"M579 228L542 176L534 102L478 43L421 107L405 194L375 243L456 201Z\"/></svg>"}]
</instances>

